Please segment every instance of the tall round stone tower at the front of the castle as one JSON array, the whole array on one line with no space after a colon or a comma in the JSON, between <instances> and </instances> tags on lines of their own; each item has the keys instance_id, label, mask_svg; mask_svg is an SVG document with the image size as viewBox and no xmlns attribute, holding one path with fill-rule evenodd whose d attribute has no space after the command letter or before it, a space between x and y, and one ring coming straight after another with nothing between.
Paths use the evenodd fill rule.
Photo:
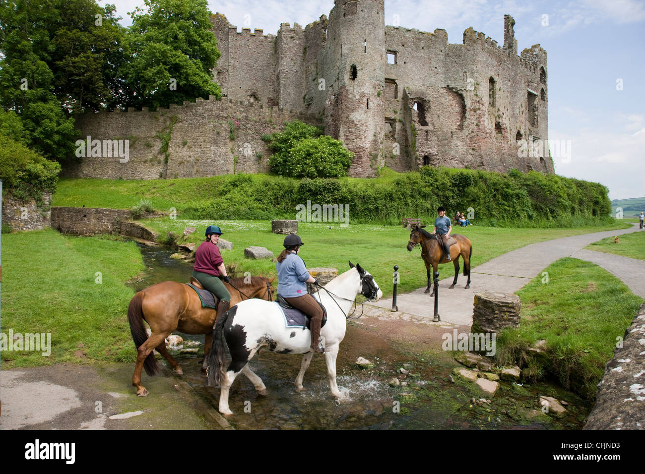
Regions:
<instances>
[{"instance_id":1,"label":"tall round stone tower at the front of the castle","mask_svg":"<svg viewBox=\"0 0 645 474\"><path fill-rule=\"evenodd\" d=\"M355 153L350 175L375 176L385 120L384 0L335 0L326 46L326 132Z\"/></svg>"}]
</instances>

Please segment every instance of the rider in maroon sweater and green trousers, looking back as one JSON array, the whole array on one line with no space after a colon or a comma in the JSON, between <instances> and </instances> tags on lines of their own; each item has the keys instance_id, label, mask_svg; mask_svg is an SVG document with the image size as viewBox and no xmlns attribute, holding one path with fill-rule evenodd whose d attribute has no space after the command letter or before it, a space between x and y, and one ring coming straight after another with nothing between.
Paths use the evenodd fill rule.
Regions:
<instances>
[{"instance_id":1,"label":"rider in maroon sweater and green trousers, looking back","mask_svg":"<svg viewBox=\"0 0 645 474\"><path fill-rule=\"evenodd\" d=\"M195 251L195 265L193 266L193 276L199 281L206 290L213 293L219 298L217 304L217 316L219 319L223 313L228 310L231 303L231 294L226 290L221 280L230 283L231 280L226 275L224 259L219 253L217 241L222 231L218 226L208 226L206 228L206 240L197 247Z\"/></svg>"}]
</instances>

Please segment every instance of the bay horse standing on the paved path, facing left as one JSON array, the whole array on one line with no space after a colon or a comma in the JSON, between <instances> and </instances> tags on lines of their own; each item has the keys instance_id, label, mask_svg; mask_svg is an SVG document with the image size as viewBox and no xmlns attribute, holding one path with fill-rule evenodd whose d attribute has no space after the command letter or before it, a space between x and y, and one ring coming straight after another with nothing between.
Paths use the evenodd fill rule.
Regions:
<instances>
[{"instance_id":1,"label":"bay horse standing on the paved path, facing left","mask_svg":"<svg viewBox=\"0 0 645 474\"><path fill-rule=\"evenodd\" d=\"M439 242L439 237L437 234L430 233L427 230L423 230L425 226L420 226L416 224L410 232L410 241L408 242L408 252L412 252L412 249L417 245L421 246L421 258L423 259L424 264L426 264L426 273L428 275L428 288L424 293L430 293L430 282L432 281L432 275L434 272L437 272L437 266L440 263L448 263L446 260L446 255L444 255L443 245ZM457 276L459 275L459 256L464 259L464 276L468 276L468 282L464 288L470 288L470 257L473 255L473 247L468 237L464 235L459 235L457 233L452 234L450 237L454 237L457 241L456 244L450 246L450 259L455 266L455 279L452 281L452 285L448 288L455 288L457 284ZM432 268L432 270L431 270ZM432 289L430 296L434 296L435 290Z\"/></svg>"}]
</instances>

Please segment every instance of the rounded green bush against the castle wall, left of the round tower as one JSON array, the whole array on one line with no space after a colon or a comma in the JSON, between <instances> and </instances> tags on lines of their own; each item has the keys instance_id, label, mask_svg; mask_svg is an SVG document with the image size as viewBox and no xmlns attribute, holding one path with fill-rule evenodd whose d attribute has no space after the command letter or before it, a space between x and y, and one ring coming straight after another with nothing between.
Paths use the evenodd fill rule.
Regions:
<instances>
[{"instance_id":1,"label":"rounded green bush against the castle wall, left of the round tower","mask_svg":"<svg viewBox=\"0 0 645 474\"><path fill-rule=\"evenodd\" d=\"M283 132L263 135L273 155L269 164L279 175L315 178L347 175L353 153L343 144L323 135L321 127L298 120L284 125Z\"/></svg>"}]
</instances>

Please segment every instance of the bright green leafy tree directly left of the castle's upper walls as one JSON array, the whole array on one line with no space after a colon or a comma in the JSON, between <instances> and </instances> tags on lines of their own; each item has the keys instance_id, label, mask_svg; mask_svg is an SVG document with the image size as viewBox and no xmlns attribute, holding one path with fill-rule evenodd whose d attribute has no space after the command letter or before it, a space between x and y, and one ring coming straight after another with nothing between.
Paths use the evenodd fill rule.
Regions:
<instances>
[{"instance_id":1,"label":"bright green leafy tree directly left of the castle's upper walls","mask_svg":"<svg viewBox=\"0 0 645 474\"><path fill-rule=\"evenodd\" d=\"M219 59L206 0L144 0L127 34L123 77L129 106L159 107L221 97L212 70Z\"/></svg>"}]
</instances>

